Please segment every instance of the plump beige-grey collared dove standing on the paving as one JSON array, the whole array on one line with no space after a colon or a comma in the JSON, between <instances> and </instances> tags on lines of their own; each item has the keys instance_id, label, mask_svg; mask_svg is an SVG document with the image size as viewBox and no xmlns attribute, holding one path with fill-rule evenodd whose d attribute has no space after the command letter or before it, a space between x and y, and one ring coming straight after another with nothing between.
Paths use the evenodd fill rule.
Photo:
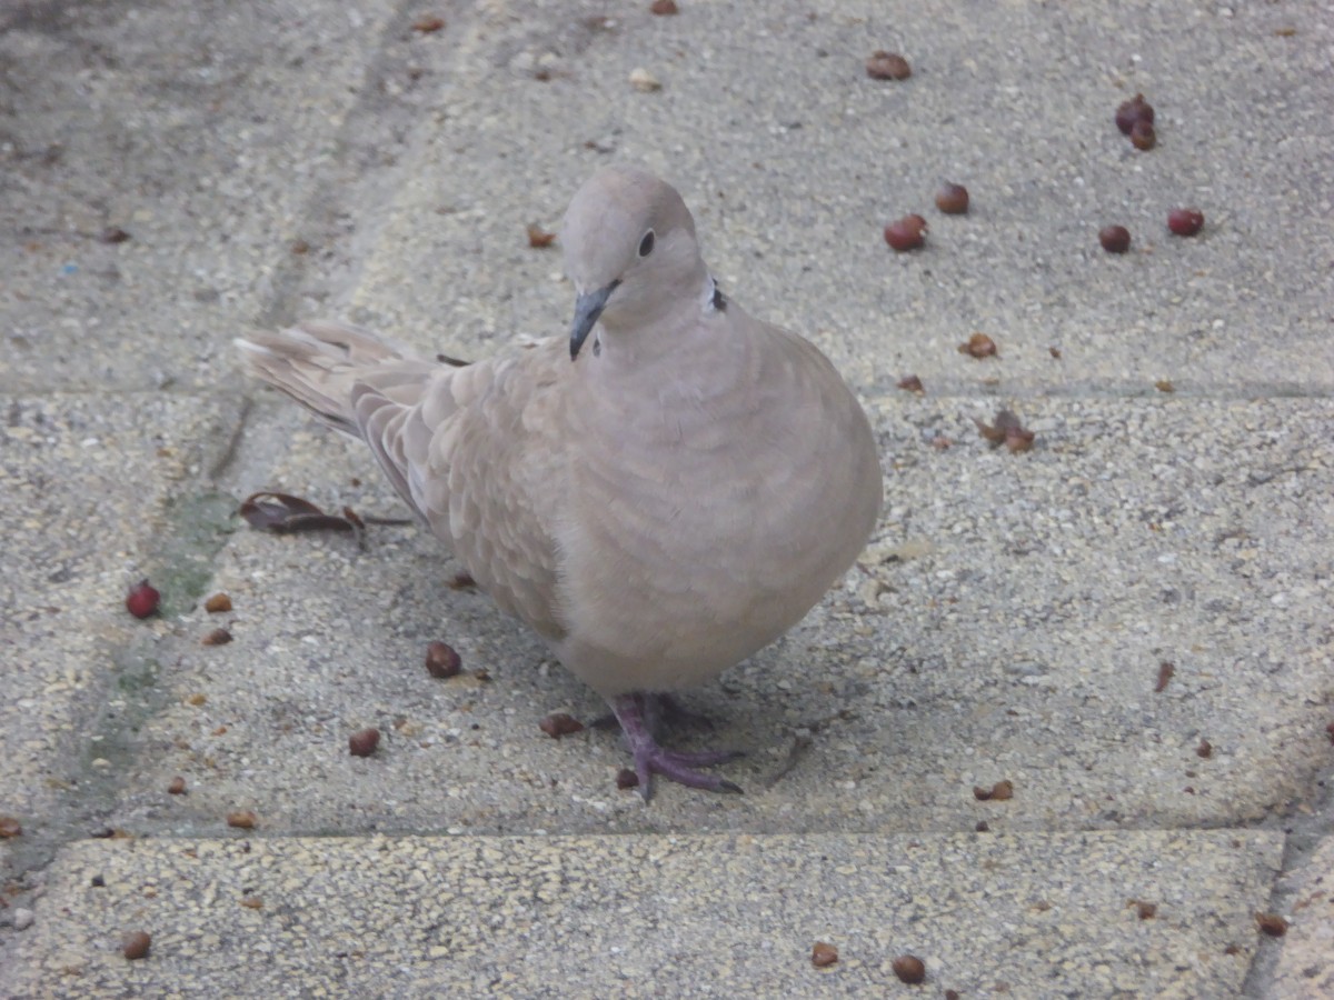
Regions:
<instances>
[{"instance_id":1,"label":"plump beige-grey collared dove standing on the paving","mask_svg":"<svg viewBox=\"0 0 1334 1000\"><path fill-rule=\"evenodd\" d=\"M639 788L734 755L660 747L668 695L802 619L880 507L875 440L807 340L723 296L680 195L607 167L562 231L570 339L458 367L343 324L237 340L364 440L478 585L610 703Z\"/></svg>"}]
</instances>

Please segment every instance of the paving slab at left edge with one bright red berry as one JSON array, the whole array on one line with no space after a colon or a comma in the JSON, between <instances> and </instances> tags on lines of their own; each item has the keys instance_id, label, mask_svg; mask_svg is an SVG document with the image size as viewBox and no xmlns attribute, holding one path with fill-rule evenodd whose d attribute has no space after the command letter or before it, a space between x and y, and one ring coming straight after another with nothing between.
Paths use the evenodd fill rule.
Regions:
<instances>
[{"instance_id":1,"label":"paving slab at left edge with one bright red berry","mask_svg":"<svg viewBox=\"0 0 1334 1000\"><path fill-rule=\"evenodd\" d=\"M5 401L0 812L29 835L79 829L65 815L71 800L107 804L92 788L123 749L119 735L151 711L157 676L169 669L161 641L171 619L212 575L233 504L219 503L203 479L240 409L236 399L160 392ZM164 616L136 621L125 593L145 576L165 595ZM99 717L101 735L89 724ZM87 808L76 813L87 821Z\"/></svg>"}]
</instances>

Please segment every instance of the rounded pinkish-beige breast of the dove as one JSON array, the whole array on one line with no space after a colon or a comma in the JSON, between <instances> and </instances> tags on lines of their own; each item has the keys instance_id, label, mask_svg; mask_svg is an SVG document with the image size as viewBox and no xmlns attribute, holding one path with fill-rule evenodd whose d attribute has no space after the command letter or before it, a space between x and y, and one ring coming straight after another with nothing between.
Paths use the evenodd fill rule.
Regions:
<instances>
[{"instance_id":1,"label":"rounded pinkish-beige breast of the dove","mask_svg":"<svg viewBox=\"0 0 1334 1000\"><path fill-rule=\"evenodd\" d=\"M856 399L814 345L748 332L580 421L556 652L606 696L699 684L767 645L875 524L880 467Z\"/></svg>"}]
</instances>

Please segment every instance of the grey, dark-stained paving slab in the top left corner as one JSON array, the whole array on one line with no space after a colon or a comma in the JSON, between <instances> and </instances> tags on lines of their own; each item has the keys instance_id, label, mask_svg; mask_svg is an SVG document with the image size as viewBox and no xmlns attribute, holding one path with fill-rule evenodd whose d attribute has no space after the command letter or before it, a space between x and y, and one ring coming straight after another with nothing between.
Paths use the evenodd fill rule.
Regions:
<instances>
[{"instance_id":1,"label":"grey, dark-stained paving slab in the top left corner","mask_svg":"<svg viewBox=\"0 0 1334 1000\"><path fill-rule=\"evenodd\" d=\"M384 33L414 36L399 7L0 12L0 388L212 385L228 329L346 253L347 207L323 197L391 152L343 128L394 103L363 89Z\"/></svg>"}]
</instances>

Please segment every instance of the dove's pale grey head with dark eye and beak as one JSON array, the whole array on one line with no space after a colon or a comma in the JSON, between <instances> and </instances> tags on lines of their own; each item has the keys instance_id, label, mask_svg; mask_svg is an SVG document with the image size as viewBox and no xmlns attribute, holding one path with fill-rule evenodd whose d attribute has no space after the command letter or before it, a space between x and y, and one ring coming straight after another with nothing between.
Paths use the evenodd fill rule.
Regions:
<instances>
[{"instance_id":1,"label":"dove's pale grey head with dark eye and beak","mask_svg":"<svg viewBox=\"0 0 1334 1000\"><path fill-rule=\"evenodd\" d=\"M599 319L611 336L654 328L683 304L698 303L708 281L686 203L638 167L604 167L579 188L560 245L578 295L571 359Z\"/></svg>"}]
</instances>

